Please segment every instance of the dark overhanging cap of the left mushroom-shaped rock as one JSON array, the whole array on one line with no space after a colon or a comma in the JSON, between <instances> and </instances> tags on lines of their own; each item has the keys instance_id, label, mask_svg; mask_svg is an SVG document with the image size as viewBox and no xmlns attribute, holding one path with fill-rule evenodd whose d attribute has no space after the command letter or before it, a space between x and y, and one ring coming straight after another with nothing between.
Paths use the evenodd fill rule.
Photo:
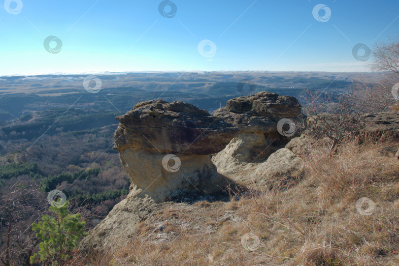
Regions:
<instances>
[{"instance_id":1,"label":"dark overhanging cap of the left mushroom-shaped rock","mask_svg":"<svg viewBox=\"0 0 399 266\"><path fill-rule=\"evenodd\" d=\"M119 121L114 148L207 155L226 147L237 129L206 110L183 102L137 103Z\"/></svg>"}]
</instances>

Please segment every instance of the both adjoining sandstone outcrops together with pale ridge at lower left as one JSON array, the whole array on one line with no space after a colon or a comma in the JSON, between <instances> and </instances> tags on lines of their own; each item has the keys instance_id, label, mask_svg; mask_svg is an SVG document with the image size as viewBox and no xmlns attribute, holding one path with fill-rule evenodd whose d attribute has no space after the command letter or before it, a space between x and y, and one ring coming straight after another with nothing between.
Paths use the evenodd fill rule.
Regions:
<instances>
[{"instance_id":1,"label":"both adjoining sandstone outcrops together with pale ridge at lower left","mask_svg":"<svg viewBox=\"0 0 399 266\"><path fill-rule=\"evenodd\" d=\"M231 182L220 173L230 175L236 170L238 175L229 177L243 183L274 184L295 178L302 162L292 150L268 154L290 139L278 133L278 121L299 113L294 97L270 92L229 100L215 116L182 102L136 104L117 117L114 135L114 148L132 181L131 191L83 239L80 250L125 245L136 236L136 225L155 215L167 199L220 193ZM215 153L218 171L209 155Z\"/></svg>"}]
</instances>

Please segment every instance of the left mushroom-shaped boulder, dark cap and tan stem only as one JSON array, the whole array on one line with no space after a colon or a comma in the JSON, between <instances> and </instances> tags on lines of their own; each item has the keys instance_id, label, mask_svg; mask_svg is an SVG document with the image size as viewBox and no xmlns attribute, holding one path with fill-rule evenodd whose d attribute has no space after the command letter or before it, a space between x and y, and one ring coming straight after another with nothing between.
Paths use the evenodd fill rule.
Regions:
<instances>
[{"instance_id":1,"label":"left mushroom-shaped boulder, dark cap and tan stem only","mask_svg":"<svg viewBox=\"0 0 399 266\"><path fill-rule=\"evenodd\" d=\"M209 154L219 152L238 129L207 111L183 102L140 102L116 118L114 149L131 178L131 189L156 203L186 193L222 191Z\"/></svg>"}]
</instances>

